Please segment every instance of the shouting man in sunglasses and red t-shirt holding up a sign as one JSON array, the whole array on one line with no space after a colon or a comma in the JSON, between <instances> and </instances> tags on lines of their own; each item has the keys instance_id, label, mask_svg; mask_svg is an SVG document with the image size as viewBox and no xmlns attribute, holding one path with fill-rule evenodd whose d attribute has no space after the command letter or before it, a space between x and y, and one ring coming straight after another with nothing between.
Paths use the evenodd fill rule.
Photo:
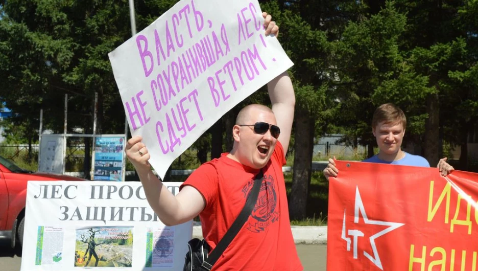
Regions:
<instances>
[{"instance_id":1,"label":"shouting man in sunglasses and red t-shirt holding up a sign","mask_svg":"<svg viewBox=\"0 0 478 271\"><path fill-rule=\"evenodd\" d=\"M278 27L271 16L265 12L262 15L266 35L277 36ZM268 91L272 109L258 104L244 107L232 127L231 152L201 165L176 196L163 189L151 171L150 155L141 137L133 137L126 145L128 159L159 219L166 225L176 225L199 215L204 239L212 250L243 209L255 175L262 169L264 180L256 205L212 270L303 269L292 236L282 173L295 106L288 73L270 81Z\"/></svg>"}]
</instances>

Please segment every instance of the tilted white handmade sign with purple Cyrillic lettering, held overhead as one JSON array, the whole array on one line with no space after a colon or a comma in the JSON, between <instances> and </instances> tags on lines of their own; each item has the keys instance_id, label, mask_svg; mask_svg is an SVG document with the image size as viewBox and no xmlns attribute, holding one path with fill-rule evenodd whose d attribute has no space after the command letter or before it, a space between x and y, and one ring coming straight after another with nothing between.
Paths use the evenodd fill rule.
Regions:
<instances>
[{"instance_id":1,"label":"tilted white handmade sign with purple Cyrillic lettering, held overhead","mask_svg":"<svg viewBox=\"0 0 478 271\"><path fill-rule=\"evenodd\" d=\"M109 53L129 127L163 178L238 102L293 63L257 0L182 0Z\"/></svg>"}]
</instances>

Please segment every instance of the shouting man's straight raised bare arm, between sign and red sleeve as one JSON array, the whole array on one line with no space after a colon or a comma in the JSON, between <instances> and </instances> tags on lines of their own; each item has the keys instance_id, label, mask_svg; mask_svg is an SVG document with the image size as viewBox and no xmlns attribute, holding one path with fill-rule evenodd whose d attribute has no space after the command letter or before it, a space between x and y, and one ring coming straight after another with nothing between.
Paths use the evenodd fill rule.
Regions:
<instances>
[{"instance_id":1,"label":"shouting man's straight raised bare arm, between sign and red sleeve","mask_svg":"<svg viewBox=\"0 0 478 271\"><path fill-rule=\"evenodd\" d=\"M287 153L291 140L292 122L294 121L295 95L288 72L274 78L267 84L271 98L272 111L280 128L279 141Z\"/></svg>"}]
</instances>

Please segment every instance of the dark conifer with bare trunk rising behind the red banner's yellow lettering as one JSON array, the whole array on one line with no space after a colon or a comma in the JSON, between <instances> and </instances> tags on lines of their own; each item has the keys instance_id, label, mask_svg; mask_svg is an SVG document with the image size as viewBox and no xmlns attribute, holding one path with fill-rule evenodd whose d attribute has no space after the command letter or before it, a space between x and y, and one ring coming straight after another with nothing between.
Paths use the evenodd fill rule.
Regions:
<instances>
[{"instance_id":1,"label":"dark conifer with bare trunk rising behind the red banner's yellow lettering","mask_svg":"<svg viewBox=\"0 0 478 271\"><path fill-rule=\"evenodd\" d=\"M407 50L417 75L428 80L426 87L430 91L424 103L427 117L422 149L431 165L436 165L442 155L441 142L445 131L449 131L444 126L448 123L446 119L453 118L453 113L443 111L442 107L450 102L446 92L448 74L460 66L460 48L463 47L458 39L466 32L459 28L457 15L464 2L396 1L397 7L407 14L408 19L401 47Z\"/></svg>"}]
</instances>

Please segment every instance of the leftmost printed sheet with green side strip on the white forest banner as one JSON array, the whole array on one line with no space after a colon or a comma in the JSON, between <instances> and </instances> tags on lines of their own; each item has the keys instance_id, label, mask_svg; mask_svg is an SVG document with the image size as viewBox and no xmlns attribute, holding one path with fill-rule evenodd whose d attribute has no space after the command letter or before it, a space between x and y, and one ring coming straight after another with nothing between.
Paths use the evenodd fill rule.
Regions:
<instances>
[{"instance_id":1,"label":"leftmost printed sheet with green side strip on the white forest banner","mask_svg":"<svg viewBox=\"0 0 478 271\"><path fill-rule=\"evenodd\" d=\"M35 265L58 265L63 260L63 228L38 227Z\"/></svg>"}]
</instances>

